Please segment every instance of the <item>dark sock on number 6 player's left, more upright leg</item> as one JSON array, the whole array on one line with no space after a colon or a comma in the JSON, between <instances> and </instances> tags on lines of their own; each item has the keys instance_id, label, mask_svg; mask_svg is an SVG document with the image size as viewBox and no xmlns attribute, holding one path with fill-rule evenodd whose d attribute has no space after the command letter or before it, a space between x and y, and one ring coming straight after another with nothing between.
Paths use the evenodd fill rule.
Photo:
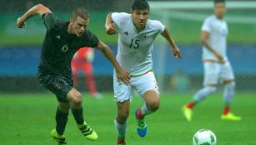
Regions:
<instances>
[{"instance_id":1,"label":"dark sock on number 6 player's left, more upright leg","mask_svg":"<svg viewBox=\"0 0 256 145\"><path fill-rule=\"evenodd\" d=\"M57 108L55 119L56 119L56 131L59 135L63 135L66 128L66 124L68 122L68 113L63 113L62 110Z\"/></svg>"}]
</instances>

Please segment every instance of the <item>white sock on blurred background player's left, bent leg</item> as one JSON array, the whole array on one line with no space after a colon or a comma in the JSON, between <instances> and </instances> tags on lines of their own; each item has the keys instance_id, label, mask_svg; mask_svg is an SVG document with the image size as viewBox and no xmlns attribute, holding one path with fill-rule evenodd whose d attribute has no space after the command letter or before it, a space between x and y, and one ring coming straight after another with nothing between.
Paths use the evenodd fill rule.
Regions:
<instances>
[{"instance_id":1,"label":"white sock on blurred background player's left, bent leg","mask_svg":"<svg viewBox=\"0 0 256 145\"><path fill-rule=\"evenodd\" d=\"M208 94L215 92L217 88L215 86L206 86L203 89L198 90L198 92L193 96L193 99L197 102L206 98Z\"/></svg>"}]
</instances>

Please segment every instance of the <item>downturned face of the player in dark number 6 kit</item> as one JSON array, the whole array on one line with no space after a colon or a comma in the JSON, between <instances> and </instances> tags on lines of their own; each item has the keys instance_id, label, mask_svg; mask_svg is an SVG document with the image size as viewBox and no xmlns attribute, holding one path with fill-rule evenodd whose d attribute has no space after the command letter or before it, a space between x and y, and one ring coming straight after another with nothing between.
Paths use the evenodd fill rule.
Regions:
<instances>
[{"instance_id":1,"label":"downturned face of the player in dark number 6 kit","mask_svg":"<svg viewBox=\"0 0 256 145\"><path fill-rule=\"evenodd\" d=\"M73 22L73 27L72 27L73 34L76 36L82 36L83 32L85 31L86 27L88 26L89 19L77 17L76 20L71 21L71 22Z\"/></svg>"}]
</instances>

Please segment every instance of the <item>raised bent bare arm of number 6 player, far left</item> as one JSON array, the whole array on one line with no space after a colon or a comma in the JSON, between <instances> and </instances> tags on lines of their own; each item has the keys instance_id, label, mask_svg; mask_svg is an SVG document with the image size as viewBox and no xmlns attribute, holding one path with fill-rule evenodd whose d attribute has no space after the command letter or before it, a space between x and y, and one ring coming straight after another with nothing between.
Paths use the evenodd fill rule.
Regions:
<instances>
[{"instance_id":1,"label":"raised bent bare arm of number 6 player, far left","mask_svg":"<svg viewBox=\"0 0 256 145\"><path fill-rule=\"evenodd\" d=\"M26 26L26 21L28 20L28 18L33 17L37 14L40 15L40 17L42 17L43 14L51 12L48 7L43 6L43 4L37 4L36 6L30 8L28 10L28 12L26 12L22 17L18 17L17 20L17 27L18 28L23 28L23 27L27 27Z\"/></svg>"}]
</instances>

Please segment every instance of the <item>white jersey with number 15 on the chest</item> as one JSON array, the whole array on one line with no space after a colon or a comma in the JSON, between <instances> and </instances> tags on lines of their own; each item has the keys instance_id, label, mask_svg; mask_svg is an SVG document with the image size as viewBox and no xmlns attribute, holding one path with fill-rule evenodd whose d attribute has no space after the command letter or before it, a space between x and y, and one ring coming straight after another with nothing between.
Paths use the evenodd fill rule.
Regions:
<instances>
[{"instance_id":1,"label":"white jersey with number 15 on the chest","mask_svg":"<svg viewBox=\"0 0 256 145\"><path fill-rule=\"evenodd\" d=\"M153 70L153 41L164 31L163 24L148 19L145 29L138 33L131 14L113 12L112 20L119 32L116 56L119 64L128 70L130 75L143 75Z\"/></svg>"}]
</instances>

